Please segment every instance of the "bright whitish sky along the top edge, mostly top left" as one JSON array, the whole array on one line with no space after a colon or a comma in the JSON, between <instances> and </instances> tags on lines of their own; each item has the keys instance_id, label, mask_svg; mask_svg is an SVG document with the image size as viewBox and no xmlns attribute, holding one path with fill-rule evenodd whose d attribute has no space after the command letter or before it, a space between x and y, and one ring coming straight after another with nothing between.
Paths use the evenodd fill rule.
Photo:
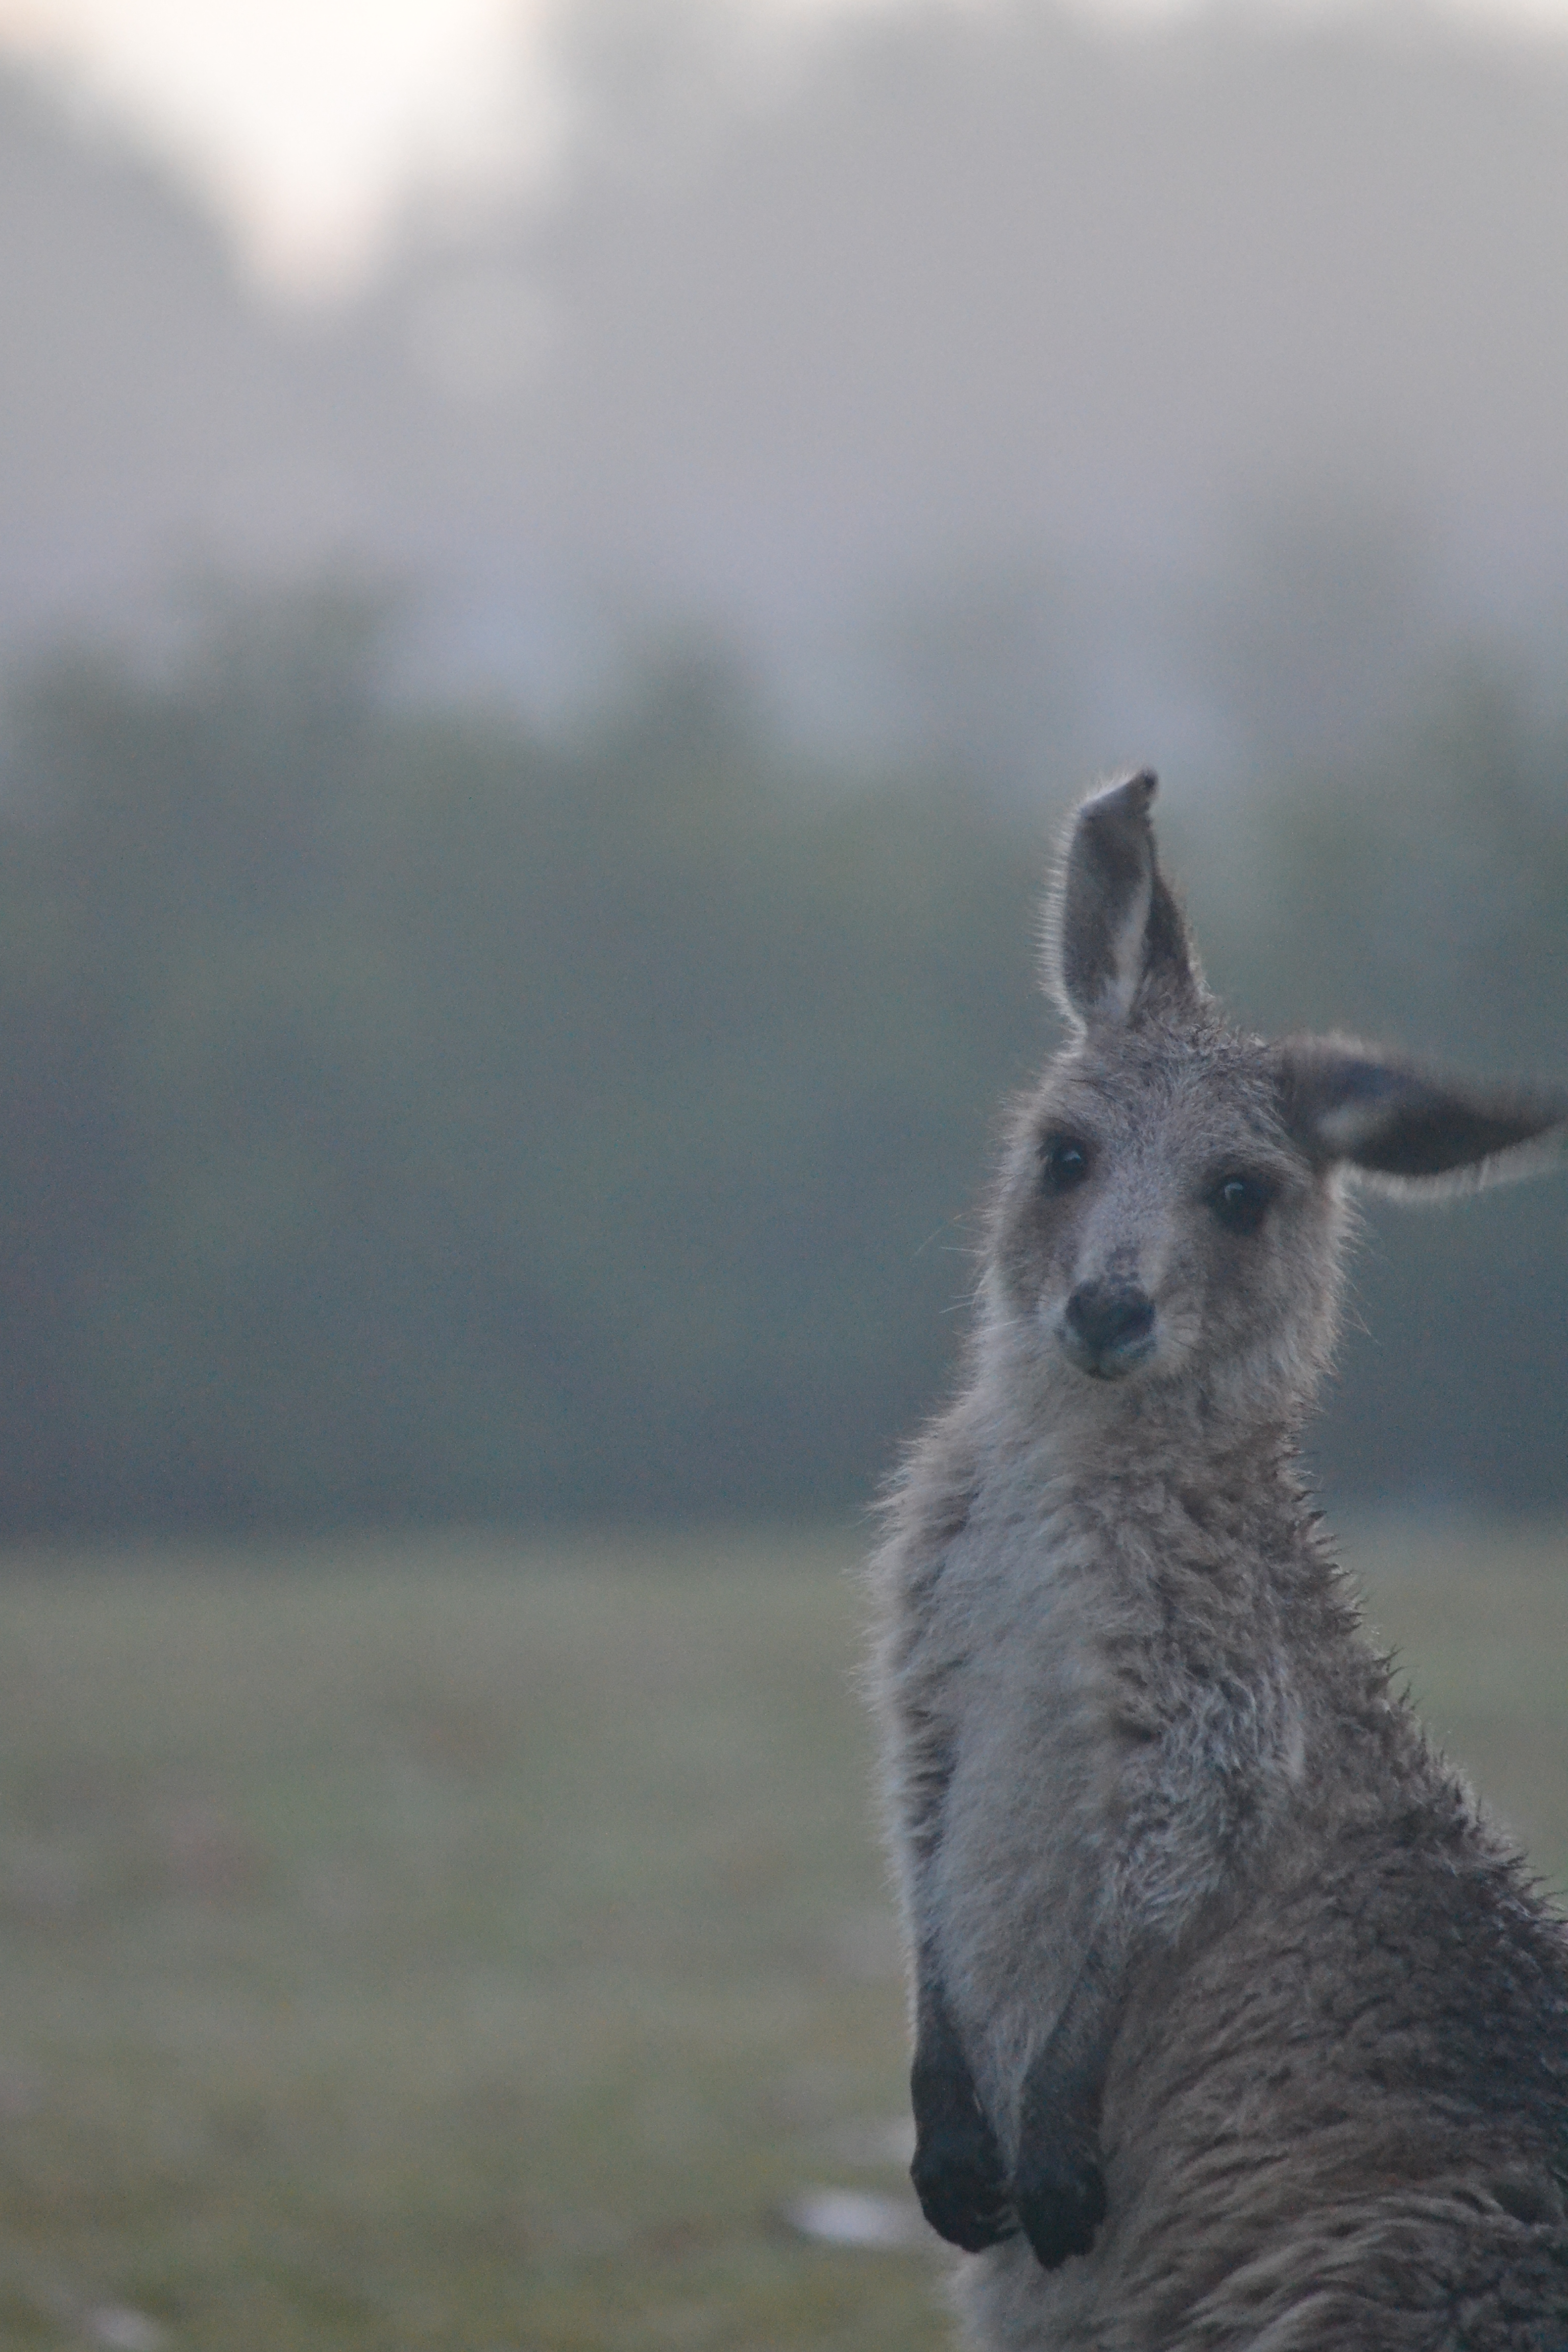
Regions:
<instances>
[{"instance_id":1,"label":"bright whitish sky along the top edge, mostly top left","mask_svg":"<svg viewBox=\"0 0 1568 2352\"><path fill-rule=\"evenodd\" d=\"M550 42L574 0L0 0L0 52L42 64L127 122L228 221L282 292L350 285L411 186L548 174L569 139ZM644 0L658 7L661 0ZM799 38L903 0L715 0L759 38ZM950 0L985 7L987 0ZM1171 19L1204 0L1077 0ZM1262 5L1262 0L1260 0ZM1295 14L1356 0L1272 0ZM1568 0L1432 0L1568 38Z\"/></svg>"}]
</instances>

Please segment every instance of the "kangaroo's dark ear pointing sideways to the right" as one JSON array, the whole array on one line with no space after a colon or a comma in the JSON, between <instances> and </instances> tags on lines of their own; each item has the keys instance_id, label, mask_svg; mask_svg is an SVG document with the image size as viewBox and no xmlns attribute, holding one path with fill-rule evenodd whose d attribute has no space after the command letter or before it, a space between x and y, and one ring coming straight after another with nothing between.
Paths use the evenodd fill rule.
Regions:
<instances>
[{"instance_id":1,"label":"kangaroo's dark ear pointing sideways to the right","mask_svg":"<svg viewBox=\"0 0 1568 2352\"><path fill-rule=\"evenodd\" d=\"M1293 1037L1281 1058L1286 1124L1302 1150L1319 1167L1342 1160L1361 1169L1385 1192L1530 1176L1563 1155L1568 1096L1469 1087L1347 1037ZM1523 1150L1528 1143L1540 1148Z\"/></svg>"}]
</instances>

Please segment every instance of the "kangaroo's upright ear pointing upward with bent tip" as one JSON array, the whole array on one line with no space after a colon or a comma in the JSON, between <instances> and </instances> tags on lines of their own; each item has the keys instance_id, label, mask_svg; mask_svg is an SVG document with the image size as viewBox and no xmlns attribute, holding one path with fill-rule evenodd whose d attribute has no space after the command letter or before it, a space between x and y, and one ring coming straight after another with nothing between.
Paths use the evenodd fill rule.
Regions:
<instances>
[{"instance_id":1,"label":"kangaroo's upright ear pointing upward with bent tip","mask_svg":"<svg viewBox=\"0 0 1568 2352\"><path fill-rule=\"evenodd\" d=\"M1128 1023L1150 1002L1197 1009L1204 976L1154 856L1143 769L1086 800L1046 903L1046 985L1070 1021Z\"/></svg>"}]
</instances>

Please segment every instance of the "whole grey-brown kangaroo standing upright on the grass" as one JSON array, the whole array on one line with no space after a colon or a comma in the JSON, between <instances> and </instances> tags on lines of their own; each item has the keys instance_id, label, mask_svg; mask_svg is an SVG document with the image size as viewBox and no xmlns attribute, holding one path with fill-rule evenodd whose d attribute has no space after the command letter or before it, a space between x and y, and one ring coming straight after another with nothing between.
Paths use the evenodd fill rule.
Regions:
<instances>
[{"instance_id":1,"label":"whole grey-brown kangaroo standing upright on the grass","mask_svg":"<svg viewBox=\"0 0 1568 2352\"><path fill-rule=\"evenodd\" d=\"M1568 1931L1295 1444L1347 1178L1521 1171L1568 1098L1237 1033L1152 800L1067 833L1070 1037L872 1569L914 2187L983 2352L1563 2352Z\"/></svg>"}]
</instances>

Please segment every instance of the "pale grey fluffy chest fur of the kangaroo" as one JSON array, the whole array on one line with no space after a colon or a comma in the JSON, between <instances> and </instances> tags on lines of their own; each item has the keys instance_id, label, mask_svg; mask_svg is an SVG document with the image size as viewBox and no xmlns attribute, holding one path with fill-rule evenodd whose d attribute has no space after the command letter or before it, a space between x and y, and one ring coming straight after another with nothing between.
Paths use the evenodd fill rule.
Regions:
<instances>
[{"instance_id":1,"label":"pale grey fluffy chest fur of the kangaroo","mask_svg":"<svg viewBox=\"0 0 1568 2352\"><path fill-rule=\"evenodd\" d=\"M931 1929L1004 2131L1088 1950L1187 1912L1237 1825L1300 1769L1300 1715L1288 1677L1258 1663L1260 1628L1204 1602L1173 1599L1154 1538L1095 1545L1067 1512L1027 1534L976 1515L947 1557Z\"/></svg>"}]
</instances>

